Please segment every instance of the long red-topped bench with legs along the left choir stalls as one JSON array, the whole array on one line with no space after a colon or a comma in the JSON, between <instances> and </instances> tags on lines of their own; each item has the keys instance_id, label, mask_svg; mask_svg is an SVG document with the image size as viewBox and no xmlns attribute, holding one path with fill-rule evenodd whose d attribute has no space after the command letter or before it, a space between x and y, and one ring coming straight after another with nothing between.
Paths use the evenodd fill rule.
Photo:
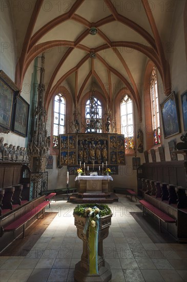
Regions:
<instances>
[{"instance_id":1,"label":"long red-topped bench with legs along the left choir stalls","mask_svg":"<svg viewBox=\"0 0 187 282\"><path fill-rule=\"evenodd\" d=\"M16 229L18 229L19 227L23 226L23 238L25 235L25 230L26 230L26 224L27 222L33 218L35 215L38 215L38 213L40 211L43 211L43 217L44 218L44 210L45 207L49 205L49 202L44 201L43 203L39 204L38 206L36 206L35 208L33 208L32 210L30 210L29 212L27 212L26 214L20 216L19 218L17 218L16 220L14 220L12 223L10 223L9 225L2 227L3 228L3 232L10 232L10 231L15 231ZM38 217L37 217L38 219Z\"/></svg>"}]
</instances>

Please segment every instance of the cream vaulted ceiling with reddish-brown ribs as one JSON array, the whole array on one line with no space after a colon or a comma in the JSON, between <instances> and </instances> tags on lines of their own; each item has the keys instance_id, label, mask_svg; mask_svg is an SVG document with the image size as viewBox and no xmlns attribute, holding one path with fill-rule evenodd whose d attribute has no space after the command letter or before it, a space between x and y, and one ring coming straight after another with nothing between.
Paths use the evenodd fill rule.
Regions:
<instances>
[{"instance_id":1,"label":"cream vaulted ceiling with reddish-brown ribs","mask_svg":"<svg viewBox=\"0 0 187 282\"><path fill-rule=\"evenodd\" d=\"M126 88L140 114L140 86L148 59L160 73L165 94L170 92L170 68L165 53L177 1L20 3L20 9L12 9L16 43L22 46L15 76L20 88L33 59L45 52L47 104L60 85L67 87L76 103L91 87L109 103L120 89ZM90 34L92 27L97 29L95 35Z\"/></svg>"}]
</instances>

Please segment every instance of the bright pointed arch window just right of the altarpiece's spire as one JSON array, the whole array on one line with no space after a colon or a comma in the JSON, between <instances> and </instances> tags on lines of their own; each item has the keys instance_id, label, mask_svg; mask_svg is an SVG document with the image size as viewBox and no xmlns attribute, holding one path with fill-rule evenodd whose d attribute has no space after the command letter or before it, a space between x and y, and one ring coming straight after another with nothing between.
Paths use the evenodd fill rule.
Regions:
<instances>
[{"instance_id":1,"label":"bright pointed arch window just right of the altarpiece's spire","mask_svg":"<svg viewBox=\"0 0 187 282\"><path fill-rule=\"evenodd\" d=\"M134 148L134 123L132 99L125 95L120 104L121 134L124 134L125 149Z\"/></svg>"}]
</instances>

